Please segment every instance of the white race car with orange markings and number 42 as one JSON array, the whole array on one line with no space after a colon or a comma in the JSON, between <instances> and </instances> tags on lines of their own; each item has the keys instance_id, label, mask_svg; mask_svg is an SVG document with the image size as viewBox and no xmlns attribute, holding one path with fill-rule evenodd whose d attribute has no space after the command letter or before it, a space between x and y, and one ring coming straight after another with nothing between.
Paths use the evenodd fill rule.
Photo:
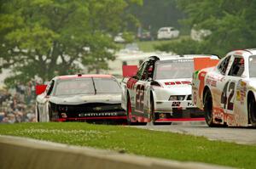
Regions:
<instances>
[{"instance_id":1,"label":"white race car with orange markings and number 42","mask_svg":"<svg viewBox=\"0 0 256 169\"><path fill-rule=\"evenodd\" d=\"M256 126L256 49L236 50L193 76L193 103L209 127Z\"/></svg>"}]
</instances>

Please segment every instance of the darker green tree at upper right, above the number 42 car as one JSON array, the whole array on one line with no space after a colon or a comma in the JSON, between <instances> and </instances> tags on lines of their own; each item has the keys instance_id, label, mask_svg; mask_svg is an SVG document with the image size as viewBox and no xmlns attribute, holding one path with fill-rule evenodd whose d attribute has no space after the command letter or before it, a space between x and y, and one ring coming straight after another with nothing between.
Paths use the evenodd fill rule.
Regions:
<instances>
[{"instance_id":1,"label":"darker green tree at upper right, above the number 42 car","mask_svg":"<svg viewBox=\"0 0 256 169\"><path fill-rule=\"evenodd\" d=\"M194 0L193 3L188 3L186 0L179 0L177 4L187 14L187 18L183 20L184 25L212 31L211 35L198 44L200 53L224 56L236 48L255 48L256 1ZM185 44L177 42L180 48L187 48Z\"/></svg>"}]
</instances>

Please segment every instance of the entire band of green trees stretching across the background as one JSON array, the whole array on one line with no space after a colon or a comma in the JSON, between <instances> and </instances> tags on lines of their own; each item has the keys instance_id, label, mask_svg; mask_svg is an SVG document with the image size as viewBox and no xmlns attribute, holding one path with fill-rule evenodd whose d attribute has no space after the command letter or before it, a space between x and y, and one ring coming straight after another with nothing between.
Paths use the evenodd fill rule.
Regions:
<instances>
[{"instance_id":1,"label":"entire band of green trees stretching across the background","mask_svg":"<svg viewBox=\"0 0 256 169\"><path fill-rule=\"evenodd\" d=\"M136 34L140 26L152 32L162 26L209 30L201 41L188 37L156 49L224 56L234 48L255 48L255 17L255 0L1 0L0 70L12 70L8 86L77 73L83 66L106 70L118 49L113 37Z\"/></svg>"}]
</instances>

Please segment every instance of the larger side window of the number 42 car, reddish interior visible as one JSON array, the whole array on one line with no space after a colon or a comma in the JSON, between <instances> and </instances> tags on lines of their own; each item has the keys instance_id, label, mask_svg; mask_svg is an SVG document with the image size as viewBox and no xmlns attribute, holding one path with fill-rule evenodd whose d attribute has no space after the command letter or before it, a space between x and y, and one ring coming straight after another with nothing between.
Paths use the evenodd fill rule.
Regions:
<instances>
[{"instance_id":1,"label":"larger side window of the number 42 car, reddish interior visible","mask_svg":"<svg viewBox=\"0 0 256 169\"><path fill-rule=\"evenodd\" d=\"M229 76L241 76L244 71L244 59L236 57L231 65Z\"/></svg>"}]
</instances>

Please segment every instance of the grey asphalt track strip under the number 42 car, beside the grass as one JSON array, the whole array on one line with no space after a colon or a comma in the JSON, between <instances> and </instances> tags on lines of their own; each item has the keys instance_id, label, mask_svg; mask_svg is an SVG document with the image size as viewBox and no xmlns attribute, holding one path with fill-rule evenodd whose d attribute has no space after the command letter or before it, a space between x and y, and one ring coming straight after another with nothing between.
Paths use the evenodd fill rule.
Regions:
<instances>
[{"instance_id":1,"label":"grey asphalt track strip under the number 42 car, beside the grass","mask_svg":"<svg viewBox=\"0 0 256 169\"><path fill-rule=\"evenodd\" d=\"M204 136L209 140L256 145L256 128L252 127L208 127L204 122L176 122L170 126L154 126L148 124L147 126L136 127L148 130Z\"/></svg>"}]
</instances>

